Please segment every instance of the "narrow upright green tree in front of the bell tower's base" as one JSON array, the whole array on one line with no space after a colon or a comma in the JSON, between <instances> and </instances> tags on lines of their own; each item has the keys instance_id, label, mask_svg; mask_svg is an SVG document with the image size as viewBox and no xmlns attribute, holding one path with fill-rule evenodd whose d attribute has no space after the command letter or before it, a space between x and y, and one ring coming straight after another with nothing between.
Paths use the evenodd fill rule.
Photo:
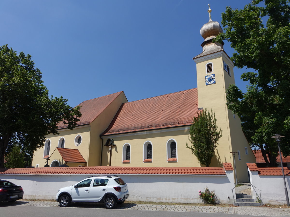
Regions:
<instances>
[{"instance_id":1,"label":"narrow upright green tree in front of the bell tower's base","mask_svg":"<svg viewBox=\"0 0 290 217\"><path fill-rule=\"evenodd\" d=\"M206 109L204 113L200 111L197 117L193 118L193 123L189 130L191 145L189 146L186 142L186 148L191 149L199 162L206 165L206 167L209 167L215 148L218 145L218 140L222 137L222 130L218 130L216 121L213 110L211 110L211 114Z\"/></svg>"}]
</instances>

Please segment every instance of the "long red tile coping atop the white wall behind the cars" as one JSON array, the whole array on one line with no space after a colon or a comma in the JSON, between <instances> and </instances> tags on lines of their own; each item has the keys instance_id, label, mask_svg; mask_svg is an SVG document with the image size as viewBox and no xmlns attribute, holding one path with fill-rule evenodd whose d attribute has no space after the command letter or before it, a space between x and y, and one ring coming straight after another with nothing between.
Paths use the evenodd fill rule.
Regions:
<instances>
[{"instance_id":1,"label":"long red tile coping atop the white wall behind the cars","mask_svg":"<svg viewBox=\"0 0 290 217\"><path fill-rule=\"evenodd\" d=\"M0 169L0 174L180 174L226 175L222 167L39 167Z\"/></svg>"}]
</instances>

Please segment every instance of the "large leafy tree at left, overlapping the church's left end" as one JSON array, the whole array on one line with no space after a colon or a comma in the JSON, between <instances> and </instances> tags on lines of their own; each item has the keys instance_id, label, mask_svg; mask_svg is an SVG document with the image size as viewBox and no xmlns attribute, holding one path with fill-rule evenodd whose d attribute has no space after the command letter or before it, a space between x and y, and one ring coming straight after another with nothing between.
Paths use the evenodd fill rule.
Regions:
<instances>
[{"instance_id":1,"label":"large leafy tree at left, overlapping the church's left end","mask_svg":"<svg viewBox=\"0 0 290 217\"><path fill-rule=\"evenodd\" d=\"M41 71L34 67L30 55L17 55L7 45L0 46L0 168L15 141L32 157L46 135L58 134L57 124L75 127L81 113L67 101L48 96Z\"/></svg>"}]
</instances>

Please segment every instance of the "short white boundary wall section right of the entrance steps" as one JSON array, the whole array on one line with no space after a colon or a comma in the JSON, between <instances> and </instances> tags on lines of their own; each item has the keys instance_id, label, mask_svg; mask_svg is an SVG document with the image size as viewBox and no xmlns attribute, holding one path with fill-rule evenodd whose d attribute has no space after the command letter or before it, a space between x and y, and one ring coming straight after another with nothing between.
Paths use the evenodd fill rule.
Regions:
<instances>
[{"instance_id":1,"label":"short white boundary wall section right of the entrance steps","mask_svg":"<svg viewBox=\"0 0 290 217\"><path fill-rule=\"evenodd\" d=\"M251 184L255 186L255 187L251 186L252 199L255 200L257 199L256 194L258 194L260 197L260 191L258 190L260 189L263 204L266 203L276 205L286 204L283 176L259 175L258 171L251 170L249 170L249 172ZM288 195L290 196L289 189L290 176L285 176L285 180Z\"/></svg>"}]
</instances>

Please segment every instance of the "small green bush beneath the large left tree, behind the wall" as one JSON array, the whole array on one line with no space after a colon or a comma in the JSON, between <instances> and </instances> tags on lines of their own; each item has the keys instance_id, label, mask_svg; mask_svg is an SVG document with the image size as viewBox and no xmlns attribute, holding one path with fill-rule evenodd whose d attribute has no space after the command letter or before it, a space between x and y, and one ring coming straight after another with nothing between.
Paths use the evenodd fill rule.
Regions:
<instances>
[{"instance_id":1,"label":"small green bush beneath the large left tree, behind the wall","mask_svg":"<svg viewBox=\"0 0 290 217\"><path fill-rule=\"evenodd\" d=\"M21 152L21 148L13 145L11 152L5 156L6 168L23 168L26 164L25 153Z\"/></svg>"}]
</instances>

